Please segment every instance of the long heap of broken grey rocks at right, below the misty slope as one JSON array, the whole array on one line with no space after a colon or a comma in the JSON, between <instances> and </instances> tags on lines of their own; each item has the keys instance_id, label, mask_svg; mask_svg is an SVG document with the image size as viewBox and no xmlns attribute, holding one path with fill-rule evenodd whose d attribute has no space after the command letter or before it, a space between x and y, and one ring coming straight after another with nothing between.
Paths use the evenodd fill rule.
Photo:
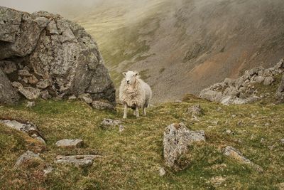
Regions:
<instances>
[{"instance_id":1,"label":"long heap of broken grey rocks at right, below the misty slope","mask_svg":"<svg viewBox=\"0 0 284 190\"><path fill-rule=\"evenodd\" d=\"M284 70L284 60L280 60L273 68L263 67L246 70L244 75L237 79L226 78L222 83L216 83L209 88L205 88L200 93L200 98L221 102L224 105L245 104L260 100L266 95L259 95L255 84L272 85L275 75L280 75ZM282 85L283 86L283 85ZM278 88L276 97L283 100L283 87Z\"/></svg>"}]
</instances>

